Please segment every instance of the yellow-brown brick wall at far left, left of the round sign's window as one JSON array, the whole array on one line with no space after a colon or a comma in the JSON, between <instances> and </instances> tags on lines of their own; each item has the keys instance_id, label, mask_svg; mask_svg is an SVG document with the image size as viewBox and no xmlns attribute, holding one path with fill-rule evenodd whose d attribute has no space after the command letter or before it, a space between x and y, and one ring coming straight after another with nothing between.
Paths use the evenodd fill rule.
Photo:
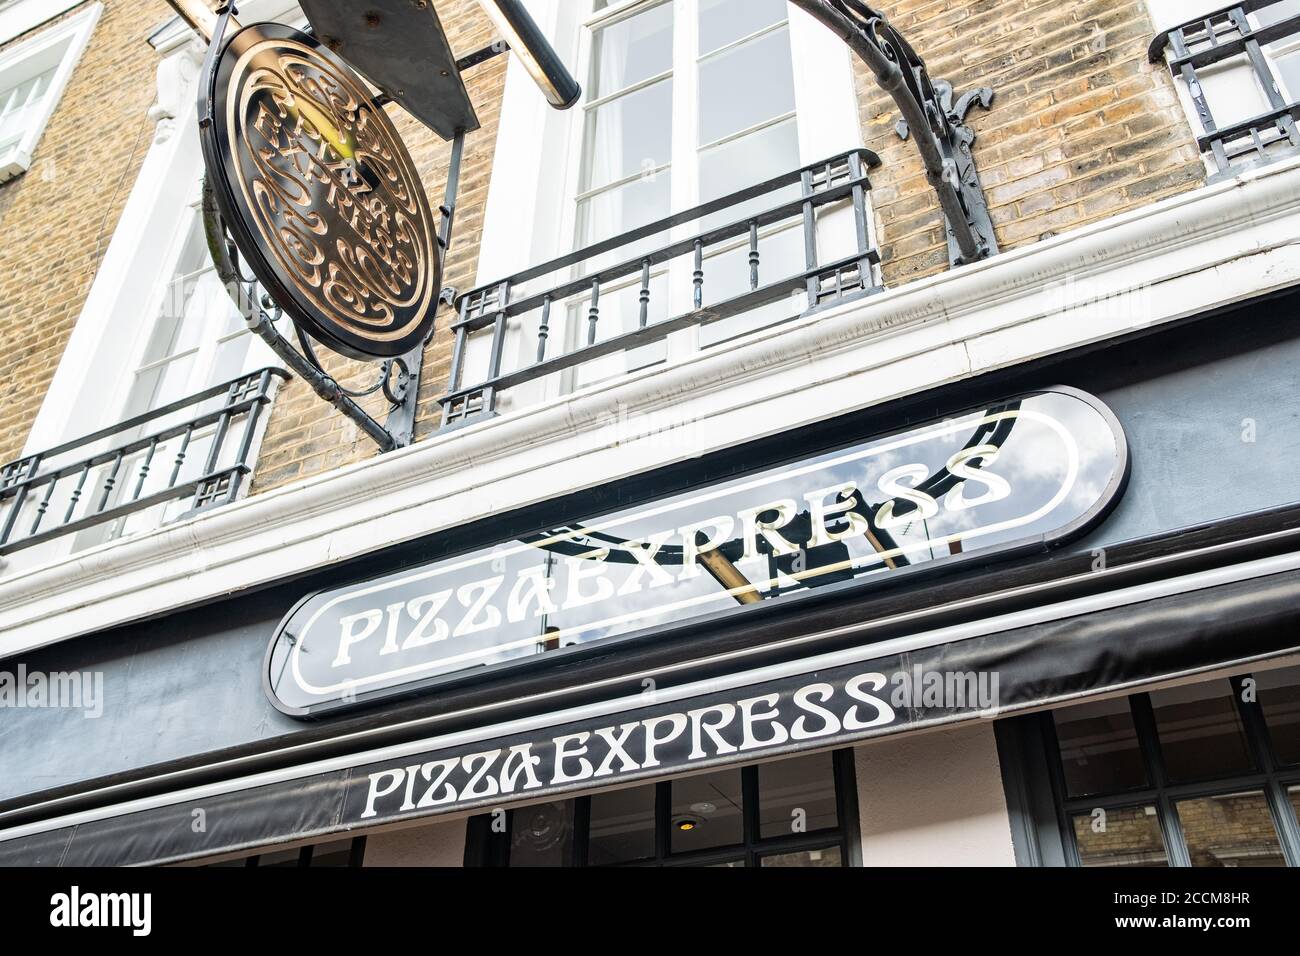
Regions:
<instances>
[{"instance_id":1,"label":"yellow-brown brick wall at far left, left of the round sign's window","mask_svg":"<svg viewBox=\"0 0 1300 956\"><path fill-rule=\"evenodd\" d=\"M146 38L168 9L107 0L31 170L0 185L0 463L22 453L148 152L157 55Z\"/></svg>"}]
</instances>

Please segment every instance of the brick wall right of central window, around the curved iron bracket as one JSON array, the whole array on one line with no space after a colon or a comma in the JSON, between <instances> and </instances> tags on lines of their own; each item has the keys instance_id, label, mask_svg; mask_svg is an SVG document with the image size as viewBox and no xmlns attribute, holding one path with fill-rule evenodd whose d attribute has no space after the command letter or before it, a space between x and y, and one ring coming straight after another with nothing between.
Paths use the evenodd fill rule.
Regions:
<instances>
[{"instance_id":1,"label":"brick wall right of central window, around the curved iron bracket","mask_svg":"<svg viewBox=\"0 0 1300 956\"><path fill-rule=\"evenodd\" d=\"M888 0L878 4L958 95L996 92L975 107L975 161L1001 248L1024 246L1205 181L1191 129L1162 65L1141 0ZM894 135L898 111L858 70L866 144L880 153L872 200L885 284L948 268L937 199L913 143Z\"/></svg>"}]
</instances>

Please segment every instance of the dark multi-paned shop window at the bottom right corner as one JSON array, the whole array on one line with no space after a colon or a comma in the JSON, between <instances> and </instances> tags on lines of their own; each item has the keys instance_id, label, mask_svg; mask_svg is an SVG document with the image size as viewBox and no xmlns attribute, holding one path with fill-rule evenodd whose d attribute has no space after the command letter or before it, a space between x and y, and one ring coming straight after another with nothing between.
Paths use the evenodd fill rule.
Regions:
<instances>
[{"instance_id":1,"label":"dark multi-paned shop window at the bottom right corner","mask_svg":"<svg viewBox=\"0 0 1300 956\"><path fill-rule=\"evenodd\" d=\"M1300 667L1053 714L1067 860L1300 865Z\"/></svg>"}]
</instances>

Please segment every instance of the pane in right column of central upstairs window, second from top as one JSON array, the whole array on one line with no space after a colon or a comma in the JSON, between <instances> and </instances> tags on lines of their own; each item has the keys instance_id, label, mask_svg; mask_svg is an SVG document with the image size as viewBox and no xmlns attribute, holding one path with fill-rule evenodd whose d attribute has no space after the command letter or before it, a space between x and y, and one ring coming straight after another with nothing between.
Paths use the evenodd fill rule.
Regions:
<instances>
[{"instance_id":1,"label":"pane in right column of central upstairs window, second from top","mask_svg":"<svg viewBox=\"0 0 1300 956\"><path fill-rule=\"evenodd\" d=\"M794 112L789 29L699 64L699 143Z\"/></svg>"}]
</instances>

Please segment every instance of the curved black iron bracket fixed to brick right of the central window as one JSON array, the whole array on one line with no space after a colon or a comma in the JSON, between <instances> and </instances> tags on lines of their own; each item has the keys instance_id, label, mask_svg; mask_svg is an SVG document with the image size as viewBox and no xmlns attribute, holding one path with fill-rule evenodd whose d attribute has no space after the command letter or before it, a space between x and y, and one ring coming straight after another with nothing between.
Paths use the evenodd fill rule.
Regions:
<instances>
[{"instance_id":1,"label":"curved black iron bracket fixed to brick right of the central window","mask_svg":"<svg viewBox=\"0 0 1300 956\"><path fill-rule=\"evenodd\" d=\"M996 255L993 220L971 153L975 131L966 124L966 113L976 103L985 109L992 105L993 90L979 87L956 96L952 83L932 81L924 60L902 34L861 0L790 3L840 36L898 105L902 120L897 133L916 143L926 179L944 211L949 261L962 265Z\"/></svg>"}]
</instances>

